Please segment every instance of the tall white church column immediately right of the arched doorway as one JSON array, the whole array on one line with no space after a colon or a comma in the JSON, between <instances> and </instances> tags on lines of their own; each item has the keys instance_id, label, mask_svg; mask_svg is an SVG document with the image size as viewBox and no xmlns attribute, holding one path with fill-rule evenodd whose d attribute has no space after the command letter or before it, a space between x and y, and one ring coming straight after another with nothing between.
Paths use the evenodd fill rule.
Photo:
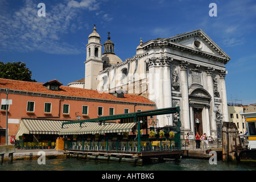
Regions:
<instances>
[{"instance_id":1,"label":"tall white church column immediately right of the arched doorway","mask_svg":"<svg viewBox=\"0 0 256 182\"><path fill-rule=\"evenodd\" d=\"M215 113L213 111L214 108L214 89L213 89L213 71L214 68L208 67L206 69L206 81L207 81L207 91L211 95L211 100L210 100L210 109L209 109L209 117L210 117L210 130L212 132L216 131L216 121L215 121ZM209 119L209 118L208 118Z\"/></svg>"}]
</instances>

